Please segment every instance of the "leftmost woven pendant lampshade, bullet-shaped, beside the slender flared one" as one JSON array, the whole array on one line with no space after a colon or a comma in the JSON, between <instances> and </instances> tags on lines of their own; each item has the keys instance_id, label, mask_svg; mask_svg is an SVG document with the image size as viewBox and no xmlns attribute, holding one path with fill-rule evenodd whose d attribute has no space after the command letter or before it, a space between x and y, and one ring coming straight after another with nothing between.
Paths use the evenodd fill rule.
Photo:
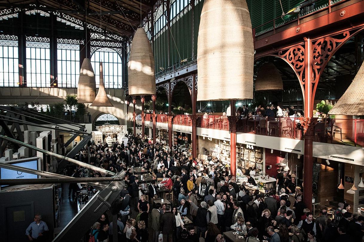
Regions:
<instances>
[{"instance_id":1,"label":"leftmost woven pendant lampshade, bullet-shaped, beside the slender flared one","mask_svg":"<svg viewBox=\"0 0 364 242\"><path fill-rule=\"evenodd\" d=\"M96 81L91 60L84 58L78 78L77 99L80 103L92 103L96 97Z\"/></svg>"}]
</instances>

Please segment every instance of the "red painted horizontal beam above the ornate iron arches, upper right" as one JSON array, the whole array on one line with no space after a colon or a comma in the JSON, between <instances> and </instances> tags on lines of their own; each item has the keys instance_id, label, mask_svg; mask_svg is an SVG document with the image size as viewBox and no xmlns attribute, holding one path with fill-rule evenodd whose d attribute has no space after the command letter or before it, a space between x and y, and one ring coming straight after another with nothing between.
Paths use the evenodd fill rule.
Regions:
<instances>
[{"instance_id":1,"label":"red painted horizontal beam above the ornate iron arches, upper right","mask_svg":"<svg viewBox=\"0 0 364 242\"><path fill-rule=\"evenodd\" d=\"M332 27L339 23L350 21L352 19L359 19L359 17L364 20L364 0L340 8L331 13L327 13L323 16L317 17L316 19L309 20L308 22L297 24L292 28L277 32L276 34L272 34L267 37L258 36L255 38L255 49L258 52L260 48L273 47L282 40L288 41L290 39L303 38L304 36L309 36L316 32L322 32L324 29L331 28L332 30ZM257 38L261 39L257 40Z\"/></svg>"}]
</instances>

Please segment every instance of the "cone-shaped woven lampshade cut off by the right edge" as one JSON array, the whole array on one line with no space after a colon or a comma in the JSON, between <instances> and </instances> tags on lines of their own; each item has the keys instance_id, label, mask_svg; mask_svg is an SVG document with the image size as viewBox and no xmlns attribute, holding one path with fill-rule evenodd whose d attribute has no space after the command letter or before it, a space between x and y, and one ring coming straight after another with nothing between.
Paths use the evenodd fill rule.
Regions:
<instances>
[{"instance_id":1,"label":"cone-shaped woven lampshade cut off by the right edge","mask_svg":"<svg viewBox=\"0 0 364 242\"><path fill-rule=\"evenodd\" d=\"M331 115L364 115L364 62L345 93L329 111Z\"/></svg>"}]
</instances>

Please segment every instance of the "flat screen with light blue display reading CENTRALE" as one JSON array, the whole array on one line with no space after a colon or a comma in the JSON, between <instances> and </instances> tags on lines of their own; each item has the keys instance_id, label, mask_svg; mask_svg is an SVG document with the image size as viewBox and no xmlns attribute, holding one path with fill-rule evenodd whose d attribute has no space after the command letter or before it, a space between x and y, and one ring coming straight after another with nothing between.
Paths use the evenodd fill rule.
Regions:
<instances>
[{"instance_id":1,"label":"flat screen with light blue display reading CENTRALE","mask_svg":"<svg viewBox=\"0 0 364 242\"><path fill-rule=\"evenodd\" d=\"M34 170L40 170L40 157L30 157L20 160L11 160L11 161L5 161L3 163ZM6 168L0 168L0 179L35 179L35 178L38 178L38 175L21 171L13 171ZM5 186L7 185L2 185L1 187Z\"/></svg>"}]
</instances>

